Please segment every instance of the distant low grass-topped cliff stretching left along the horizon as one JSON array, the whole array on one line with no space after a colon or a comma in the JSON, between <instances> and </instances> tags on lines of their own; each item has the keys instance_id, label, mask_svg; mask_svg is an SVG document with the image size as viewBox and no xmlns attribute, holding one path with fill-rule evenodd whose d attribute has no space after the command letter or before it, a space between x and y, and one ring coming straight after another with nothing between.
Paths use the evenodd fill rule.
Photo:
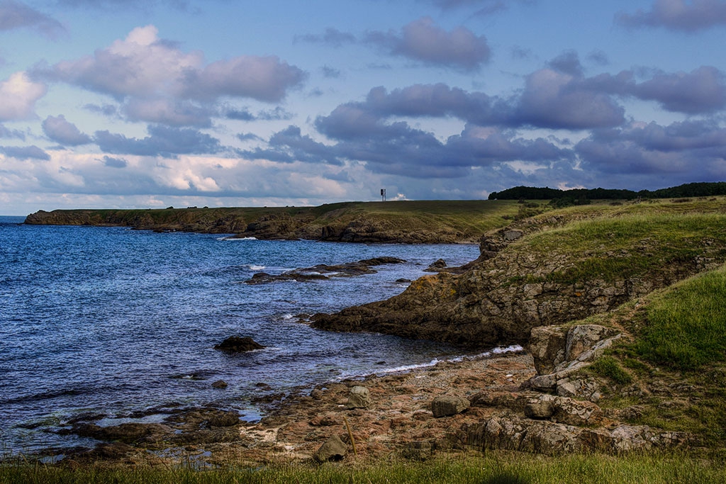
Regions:
<instances>
[{"instance_id":1,"label":"distant low grass-topped cliff stretching left along the horizon","mask_svg":"<svg viewBox=\"0 0 726 484\"><path fill-rule=\"evenodd\" d=\"M258 239L331 242L477 242L504 226L521 206L513 201L344 202L319 207L40 210L25 223L128 226L140 230L235 234Z\"/></svg>"}]
</instances>

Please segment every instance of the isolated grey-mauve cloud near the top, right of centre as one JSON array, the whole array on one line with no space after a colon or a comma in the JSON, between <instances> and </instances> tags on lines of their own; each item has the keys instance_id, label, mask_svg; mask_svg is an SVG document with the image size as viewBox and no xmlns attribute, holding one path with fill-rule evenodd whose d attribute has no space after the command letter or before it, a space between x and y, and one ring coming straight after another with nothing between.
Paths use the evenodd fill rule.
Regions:
<instances>
[{"instance_id":1,"label":"isolated grey-mauve cloud near the top, right of centre","mask_svg":"<svg viewBox=\"0 0 726 484\"><path fill-rule=\"evenodd\" d=\"M464 71L478 70L492 55L484 36L465 27L447 32L434 25L431 17L414 20L400 32L371 31L364 42L391 55Z\"/></svg>"}]
</instances>

